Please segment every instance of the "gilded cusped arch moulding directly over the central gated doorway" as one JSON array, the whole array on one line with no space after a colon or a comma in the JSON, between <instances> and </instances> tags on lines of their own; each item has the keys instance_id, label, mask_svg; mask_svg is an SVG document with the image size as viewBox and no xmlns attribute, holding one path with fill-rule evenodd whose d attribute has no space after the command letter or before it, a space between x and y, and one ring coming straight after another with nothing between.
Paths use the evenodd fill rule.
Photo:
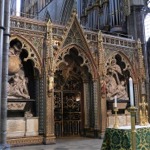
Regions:
<instances>
[{"instance_id":1,"label":"gilded cusped arch moulding directly over the central gated doorway","mask_svg":"<svg viewBox=\"0 0 150 150\"><path fill-rule=\"evenodd\" d=\"M82 57L83 63L81 64L81 66L87 66L93 79L97 79L98 72L96 71L96 64L92 58L92 55L89 53L89 51L82 49L79 45L76 44L67 45L63 49L61 49L59 53L57 53L57 55L55 56L54 70L57 70L57 67L61 62L65 62L64 57L70 53L70 50L72 48L75 48L78 51L78 56Z\"/></svg>"}]
</instances>

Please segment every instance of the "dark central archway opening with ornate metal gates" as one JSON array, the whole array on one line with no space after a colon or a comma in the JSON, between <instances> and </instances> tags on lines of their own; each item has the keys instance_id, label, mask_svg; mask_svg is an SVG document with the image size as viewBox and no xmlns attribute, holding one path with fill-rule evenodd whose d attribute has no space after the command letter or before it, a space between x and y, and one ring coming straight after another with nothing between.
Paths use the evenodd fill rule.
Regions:
<instances>
[{"instance_id":1,"label":"dark central archway opening with ornate metal gates","mask_svg":"<svg viewBox=\"0 0 150 150\"><path fill-rule=\"evenodd\" d=\"M84 129L84 86L91 79L88 67L75 48L64 56L55 72L55 136L80 136Z\"/></svg>"}]
</instances>

